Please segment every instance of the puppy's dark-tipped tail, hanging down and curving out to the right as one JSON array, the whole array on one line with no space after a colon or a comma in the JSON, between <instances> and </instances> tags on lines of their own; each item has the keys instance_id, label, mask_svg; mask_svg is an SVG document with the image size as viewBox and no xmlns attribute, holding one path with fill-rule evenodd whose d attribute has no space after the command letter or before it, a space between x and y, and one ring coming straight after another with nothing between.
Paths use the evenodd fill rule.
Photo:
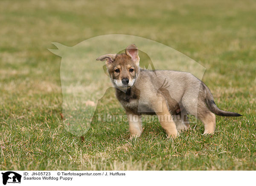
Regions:
<instances>
[{"instance_id":1,"label":"puppy's dark-tipped tail, hanging down and curving out to the right","mask_svg":"<svg viewBox=\"0 0 256 186\"><path fill-rule=\"evenodd\" d=\"M206 102L206 105L208 106L209 110L212 112L212 113L215 113L219 116L242 116L241 114L239 113L235 113L235 112L228 112L228 111L224 111L224 110L221 110L217 107L217 105L215 104L214 100L213 100L213 96L212 96L212 93L211 91L209 90L209 88L203 84L207 94L206 94L206 98L205 98L205 102Z\"/></svg>"}]
</instances>

